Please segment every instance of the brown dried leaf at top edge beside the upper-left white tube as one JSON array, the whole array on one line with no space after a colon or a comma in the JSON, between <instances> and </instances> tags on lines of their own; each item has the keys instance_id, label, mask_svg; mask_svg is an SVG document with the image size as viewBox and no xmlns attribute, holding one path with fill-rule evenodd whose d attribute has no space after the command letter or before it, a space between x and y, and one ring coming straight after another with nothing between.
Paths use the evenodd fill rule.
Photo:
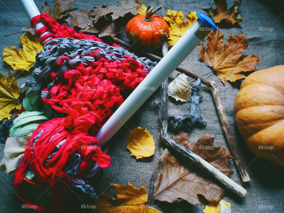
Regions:
<instances>
[{"instance_id":1,"label":"brown dried leaf at top edge beside the upper-left white tube","mask_svg":"<svg viewBox=\"0 0 284 213\"><path fill-rule=\"evenodd\" d=\"M41 7L41 12L46 13L51 16L54 20L62 18L65 14L64 12L69 10L75 0L55 0L54 8L50 9L50 6L47 2L44 3L44 6Z\"/></svg>"}]
</instances>

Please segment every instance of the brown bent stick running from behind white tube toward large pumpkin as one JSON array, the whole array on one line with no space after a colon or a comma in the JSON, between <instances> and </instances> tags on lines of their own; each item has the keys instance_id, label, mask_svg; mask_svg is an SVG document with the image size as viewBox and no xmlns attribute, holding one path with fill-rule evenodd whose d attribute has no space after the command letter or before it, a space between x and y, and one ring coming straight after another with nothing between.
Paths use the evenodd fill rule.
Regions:
<instances>
[{"instance_id":1,"label":"brown bent stick running from behind white tube toward large pumpkin","mask_svg":"<svg viewBox=\"0 0 284 213\"><path fill-rule=\"evenodd\" d=\"M133 46L130 46L130 44L125 43L124 41L122 41L118 38L113 38L113 40L115 41L115 43L118 43L118 44L120 44L120 45L122 45L126 48L131 49L136 54L141 54L141 50L138 51ZM148 57L152 60L156 60L156 61L161 60L160 57L158 57L154 54L151 54L151 53L147 53L147 52L142 51L142 54L143 54L143 56L146 56L146 57ZM224 109L224 106L222 104L222 100L221 100L221 97L220 97L216 83L214 81L208 80L208 79L206 79L206 78L204 78L200 75L197 75L196 73L191 72L191 71L189 71L189 70L187 70L183 67L180 67L180 66L177 67L176 70L179 71L179 72L185 73L186 75L188 75L191 78L194 78L194 79L200 78L200 80L203 84L205 84L208 87L212 87L212 90L211 90L212 93L211 94L212 94L213 102L214 102L214 105L215 105L215 108L216 108L216 111L217 111L217 114L218 114L218 117L219 117L219 120L220 120L220 124L221 124L222 130L223 130L224 137L227 141L228 148L230 150L231 155L233 156L235 167L237 168L239 175L241 176L242 182L250 181L251 179L249 177L249 174L246 170L245 165L242 162L241 156L240 156L238 149L237 149L236 142L233 138L231 128L230 128L230 125L229 125L229 122L228 122L228 119L227 119L227 116L226 116L226 113L225 113L225 109Z\"/></svg>"}]
</instances>

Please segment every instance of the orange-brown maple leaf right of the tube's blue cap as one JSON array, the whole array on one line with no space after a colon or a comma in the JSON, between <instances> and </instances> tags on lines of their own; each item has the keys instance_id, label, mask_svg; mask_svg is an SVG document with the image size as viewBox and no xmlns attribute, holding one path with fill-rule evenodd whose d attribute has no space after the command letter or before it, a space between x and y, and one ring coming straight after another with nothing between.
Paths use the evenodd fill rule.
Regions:
<instances>
[{"instance_id":1,"label":"orange-brown maple leaf right of the tube's blue cap","mask_svg":"<svg viewBox=\"0 0 284 213\"><path fill-rule=\"evenodd\" d=\"M202 61L215 70L218 78L225 83L226 80L235 82L238 79L246 78L241 72L256 71L256 64L261 58L253 54L244 56L249 43L246 41L246 34L234 36L230 34L225 45L224 35L218 29L207 36L207 48L200 45Z\"/></svg>"}]
</instances>

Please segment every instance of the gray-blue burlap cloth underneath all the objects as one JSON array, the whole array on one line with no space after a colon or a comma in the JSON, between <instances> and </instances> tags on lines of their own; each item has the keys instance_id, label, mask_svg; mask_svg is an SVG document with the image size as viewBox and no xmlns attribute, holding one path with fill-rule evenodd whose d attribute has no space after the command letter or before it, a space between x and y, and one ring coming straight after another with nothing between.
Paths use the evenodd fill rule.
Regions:
<instances>
[{"instance_id":1,"label":"gray-blue burlap cloth underneath all the objects","mask_svg":"<svg viewBox=\"0 0 284 213\"><path fill-rule=\"evenodd\" d=\"M50 5L53 5L53 1L48 1ZM75 6L83 9L92 9L93 6L101 7L103 4L115 3L116 1L90 1L90 0L77 0ZM251 0L243 1L240 8L243 22L241 22L237 28L222 28L222 32L227 39L230 33L234 35L241 32L246 33L247 41L250 43L249 47L245 51L245 54L254 54L256 57L262 57L262 60L257 65L257 69L264 69L275 65L284 64L284 14L283 7L280 3L282 1L270 0ZM40 8L44 1L36 1L38 8ZM190 11L202 12L201 7L210 7L213 5L211 1L201 0L189 0L189 1L152 1L151 4L156 6L163 6L163 10L159 14L164 15L166 9L183 10L184 13ZM228 5L232 5L233 1L229 0ZM1 29L1 43L0 49L4 47L14 45L20 48L17 33L22 31L23 27L28 27L28 19L20 6L18 1L4 0L0 3L0 29ZM260 31L259 28L272 28L273 31ZM14 35L9 35L17 33ZM9 35L8 37L4 37ZM128 41L125 35L120 35L119 38ZM224 40L225 40L224 39ZM181 66L203 75L210 71L203 62L200 61L197 53L199 47L197 47L187 59L181 64ZM2 54L1 54L2 57ZM1 58L2 60L2 58ZM0 63L1 73L7 76L9 70L11 70L4 63ZM176 76L177 72L171 75L170 80ZM262 159L256 158L254 154L246 148L242 137L239 135L235 126L235 117L233 112L233 104L240 82L237 83L225 83L222 82L213 73L206 76L210 80L216 81L220 90L220 95L225 107L225 111L231 125L231 129L239 147L239 151L243 157L243 161L247 166L249 175L251 177L250 184L246 185L248 193L244 199L239 199L236 196L229 194L224 199L232 203L232 210L235 213L246 212L258 212L258 213L283 213L284 212L284 184L283 184L283 167L276 167ZM17 78L19 85L22 84L26 78ZM275 79L277 80L277 79ZM214 105L212 103L212 97L209 92L201 91L203 95L201 109L202 116L207 121L206 128L204 129L192 129L190 132L191 142L197 141L197 139L204 133L215 134L215 145L225 145L225 140L222 134L222 130L219 124L217 114L215 112ZM147 128L151 134L154 135L156 143L155 155L159 157L162 153L164 146L158 141L158 129L160 119L160 90L157 90L151 98L138 110L128 122L123 126L117 134L112 138L112 146L109 150L109 154L112 156L112 167L104 170L102 180L96 187L96 192L100 195L102 192L106 192L110 196L114 197L113 190L109 187L109 182L127 184L127 181L133 183L137 188L140 188L142 182L145 183L147 190L149 191L149 178L152 170L156 164L156 158L150 157L146 160L136 160L130 156L129 151L126 149L126 135L130 130L137 126ZM168 104L169 114L185 114L189 112L189 104L176 105L171 102ZM3 154L4 144L1 144L1 156ZM234 173L231 178L237 183L241 184L238 178L237 172L230 162L231 168ZM22 202L13 188L13 175L7 175L5 172L0 172L0 212L32 212L30 209L22 209ZM32 187L28 186L30 193ZM43 192L44 190L42 190ZM80 209L81 203L86 203L86 196L78 191L70 192L70 199L77 200L74 203L74 208ZM36 194L36 193L35 193ZM40 195L41 193L39 193ZM37 195L38 196L38 195ZM72 197L73 196L73 197ZM45 195L41 196L43 199ZM151 198L150 198L151 199ZM81 201L83 200L83 201ZM163 212L202 212L204 204L192 206L187 202L180 202L175 204L162 203L159 201L151 201L150 205L163 211Z\"/></svg>"}]
</instances>

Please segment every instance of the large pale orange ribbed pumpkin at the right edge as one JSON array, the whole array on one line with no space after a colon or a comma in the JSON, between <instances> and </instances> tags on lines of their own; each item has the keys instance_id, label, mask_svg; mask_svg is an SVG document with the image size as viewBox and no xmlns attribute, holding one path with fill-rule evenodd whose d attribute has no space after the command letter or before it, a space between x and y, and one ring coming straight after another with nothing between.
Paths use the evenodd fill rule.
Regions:
<instances>
[{"instance_id":1,"label":"large pale orange ribbed pumpkin at the right edge","mask_svg":"<svg viewBox=\"0 0 284 213\"><path fill-rule=\"evenodd\" d=\"M284 65L259 70L242 83L235 99L236 124L248 148L284 164Z\"/></svg>"}]
</instances>

